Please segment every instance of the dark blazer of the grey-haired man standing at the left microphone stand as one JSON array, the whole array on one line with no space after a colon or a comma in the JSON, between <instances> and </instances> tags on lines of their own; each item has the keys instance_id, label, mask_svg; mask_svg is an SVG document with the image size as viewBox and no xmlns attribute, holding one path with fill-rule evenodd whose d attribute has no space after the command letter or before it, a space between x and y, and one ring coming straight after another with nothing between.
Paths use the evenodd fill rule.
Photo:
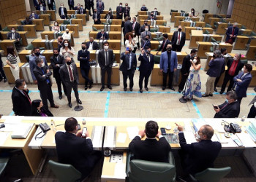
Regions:
<instances>
[{"instance_id":1,"label":"dark blazer of the grey-haired man standing at the left microphone stand","mask_svg":"<svg viewBox=\"0 0 256 182\"><path fill-rule=\"evenodd\" d=\"M71 63L71 66L73 68L73 76L75 82L79 83L78 68L75 65L75 63ZM67 71L67 64L61 66L61 68L59 69L59 74L61 75L61 81L64 82L65 85L70 84L69 71Z\"/></svg>"}]
</instances>

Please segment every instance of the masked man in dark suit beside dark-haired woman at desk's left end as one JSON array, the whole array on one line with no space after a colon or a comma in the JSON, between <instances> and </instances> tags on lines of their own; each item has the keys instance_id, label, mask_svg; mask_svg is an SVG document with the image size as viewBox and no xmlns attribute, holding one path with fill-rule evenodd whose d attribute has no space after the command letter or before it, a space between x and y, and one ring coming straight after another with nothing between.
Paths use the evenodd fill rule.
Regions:
<instances>
[{"instance_id":1,"label":"masked man in dark suit beside dark-haired woman at desk's left end","mask_svg":"<svg viewBox=\"0 0 256 182\"><path fill-rule=\"evenodd\" d=\"M23 79L15 81L15 87L12 89L12 106L15 116L30 116L31 100L29 89Z\"/></svg>"}]
</instances>

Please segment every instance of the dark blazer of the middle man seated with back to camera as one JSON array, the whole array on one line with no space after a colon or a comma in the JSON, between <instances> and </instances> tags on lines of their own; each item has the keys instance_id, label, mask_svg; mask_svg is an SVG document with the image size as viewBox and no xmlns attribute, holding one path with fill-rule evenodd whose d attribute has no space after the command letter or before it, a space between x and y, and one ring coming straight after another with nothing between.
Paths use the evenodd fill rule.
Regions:
<instances>
[{"instance_id":1,"label":"dark blazer of the middle man seated with back to camera","mask_svg":"<svg viewBox=\"0 0 256 182\"><path fill-rule=\"evenodd\" d=\"M169 162L170 144L165 137L141 141L139 136L133 138L129 143L129 150L135 155L134 159L141 159L154 162Z\"/></svg>"}]
</instances>

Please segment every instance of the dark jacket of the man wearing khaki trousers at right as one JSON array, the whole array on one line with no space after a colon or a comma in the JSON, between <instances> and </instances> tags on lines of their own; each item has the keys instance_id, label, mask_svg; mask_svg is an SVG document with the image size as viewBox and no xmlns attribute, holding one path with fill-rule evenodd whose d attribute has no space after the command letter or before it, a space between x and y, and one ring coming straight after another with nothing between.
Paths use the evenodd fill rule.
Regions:
<instances>
[{"instance_id":1,"label":"dark jacket of the man wearing khaki trousers at right","mask_svg":"<svg viewBox=\"0 0 256 182\"><path fill-rule=\"evenodd\" d=\"M206 74L211 77L220 76L223 70L225 70L225 60L224 58L215 58L214 60L210 60L208 64L209 69Z\"/></svg>"}]
</instances>

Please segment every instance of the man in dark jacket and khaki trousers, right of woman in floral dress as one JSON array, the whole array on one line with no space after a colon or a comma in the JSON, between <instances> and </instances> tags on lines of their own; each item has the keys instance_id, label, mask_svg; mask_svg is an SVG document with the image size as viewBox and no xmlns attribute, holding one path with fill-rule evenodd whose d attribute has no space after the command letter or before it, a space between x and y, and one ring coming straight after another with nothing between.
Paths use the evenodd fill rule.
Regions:
<instances>
[{"instance_id":1,"label":"man in dark jacket and khaki trousers, right of woman in floral dress","mask_svg":"<svg viewBox=\"0 0 256 182\"><path fill-rule=\"evenodd\" d=\"M208 74L206 82L206 93L202 97L213 96L214 92L214 82L217 76L225 70L225 60L222 58L222 53L219 50L214 51L214 55L208 64L209 69L206 74Z\"/></svg>"}]
</instances>

